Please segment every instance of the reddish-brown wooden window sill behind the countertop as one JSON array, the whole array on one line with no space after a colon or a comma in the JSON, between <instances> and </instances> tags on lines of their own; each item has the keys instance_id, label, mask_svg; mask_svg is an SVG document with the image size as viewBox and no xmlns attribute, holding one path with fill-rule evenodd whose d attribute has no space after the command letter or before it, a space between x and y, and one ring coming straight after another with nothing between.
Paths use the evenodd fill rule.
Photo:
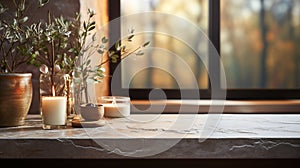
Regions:
<instances>
[{"instance_id":1,"label":"reddish-brown wooden window sill behind the countertop","mask_svg":"<svg viewBox=\"0 0 300 168\"><path fill-rule=\"evenodd\" d=\"M300 100L132 100L132 113L300 113ZM184 108L184 111L180 111ZM214 109L217 109L214 111Z\"/></svg>"}]
</instances>

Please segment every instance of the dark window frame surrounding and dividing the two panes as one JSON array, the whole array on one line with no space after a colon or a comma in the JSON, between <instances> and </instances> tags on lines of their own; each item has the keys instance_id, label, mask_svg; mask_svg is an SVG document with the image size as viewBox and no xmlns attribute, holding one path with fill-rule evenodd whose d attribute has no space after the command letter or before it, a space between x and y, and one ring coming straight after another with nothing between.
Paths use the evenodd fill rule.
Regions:
<instances>
[{"instance_id":1,"label":"dark window frame surrounding and dividing the two panes","mask_svg":"<svg viewBox=\"0 0 300 168\"><path fill-rule=\"evenodd\" d=\"M220 0L209 0L209 23L208 23L208 37L211 43L214 45L213 50L216 50L220 55L221 51L221 43L220 43ZM121 3L120 0L108 0L108 18L109 21L112 21L116 18L119 18L121 15ZM118 23L121 26L121 23ZM109 33L111 41L117 41L117 37L121 36L121 28L114 28L112 33ZM111 44L113 45L113 44ZM218 60L208 60L209 62L209 72L220 72L220 59ZM114 73L116 71L116 67L119 65L120 60L117 63L111 63L109 65L110 68L110 76L118 75L116 77L117 86L114 86L114 93L118 93L118 95L128 95L128 89L122 88L121 84L121 72ZM219 65L219 66L215 66ZM217 70L215 69L217 68ZM121 70L121 68L118 68ZM213 69L213 70L212 70ZM214 91L217 93L221 93L222 95L226 91L226 99L227 100L289 100L289 99L299 99L300 98L300 89L222 89L221 88L221 76L220 73L210 74L209 81L211 78L214 78L214 81L217 82L218 88L214 88ZM111 78L109 80L109 86L111 84ZM194 95L189 93L194 93L195 91L199 92L201 99L211 99L211 85L210 82L208 84L207 89L162 89L167 99L195 99L195 97L181 97L181 93L185 93L184 95ZM129 96L132 100L148 100L149 93L152 89L129 89ZM112 95L111 89L109 89L109 94ZM199 99L198 97L196 99Z\"/></svg>"}]
</instances>

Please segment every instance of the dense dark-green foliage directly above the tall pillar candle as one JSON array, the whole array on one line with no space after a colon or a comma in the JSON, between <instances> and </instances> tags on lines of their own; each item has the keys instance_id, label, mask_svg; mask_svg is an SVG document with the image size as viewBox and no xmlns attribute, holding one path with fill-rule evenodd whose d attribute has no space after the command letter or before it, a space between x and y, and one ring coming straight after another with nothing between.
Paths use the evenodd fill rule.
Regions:
<instances>
[{"instance_id":1,"label":"dense dark-green foliage directly above the tall pillar candle","mask_svg":"<svg viewBox=\"0 0 300 168\"><path fill-rule=\"evenodd\" d=\"M62 16L52 18L48 11L48 22L31 26L33 45L27 48L27 54L32 55L31 64L43 68L41 72L71 74L75 62L74 54L70 51L71 24Z\"/></svg>"}]
</instances>

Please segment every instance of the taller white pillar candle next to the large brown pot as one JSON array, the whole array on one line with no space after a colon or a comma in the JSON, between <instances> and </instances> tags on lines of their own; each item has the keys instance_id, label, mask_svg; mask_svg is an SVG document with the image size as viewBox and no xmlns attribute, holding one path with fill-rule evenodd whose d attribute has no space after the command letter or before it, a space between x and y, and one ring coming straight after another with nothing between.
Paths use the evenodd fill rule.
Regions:
<instances>
[{"instance_id":1,"label":"taller white pillar candle next to the large brown pot","mask_svg":"<svg viewBox=\"0 0 300 168\"><path fill-rule=\"evenodd\" d=\"M67 97L42 96L43 124L51 126L66 125Z\"/></svg>"}]
</instances>

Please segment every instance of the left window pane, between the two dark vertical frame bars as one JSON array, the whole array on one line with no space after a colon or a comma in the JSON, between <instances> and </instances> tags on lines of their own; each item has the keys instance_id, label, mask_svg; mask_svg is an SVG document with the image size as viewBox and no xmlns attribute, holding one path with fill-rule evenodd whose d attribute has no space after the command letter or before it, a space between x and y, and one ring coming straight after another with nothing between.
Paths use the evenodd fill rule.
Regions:
<instances>
[{"instance_id":1,"label":"left window pane, between the two dark vertical frame bars","mask_svg":"<svg viewBox=\"0 0 300 168\"><path fill-rule=\"evenodd\" d=\"M172 2L172 3L170 3ZM208 32L208 1L207 0L121 0L121 16L130 18L140 12L161 12L170 14L187 20L203 31ZM153 17L152 15L147 17ZM123 88L163 88L163 89L195 89L190 84L192 78L197 81L197 88L208 88L207 70L192 48L197 48L198 52L207 52L207 45L203 45L198 32L189 32L185 26L171 24L168 18L161 18L159 22L151 22L151 18L141 17L135 19L134 27L127 22L121 21L121 36L128 34L130 29L137 33L132 45L127 48L135 48L136 45L145 41L150 41L149 50L141 57L130 58L134 61L122 62L122 87ZM188 36L189 42L194 46L187 45L181 39L169 34L156 33L159 28L166 28L170 34L184 32ZM151 32L138 33L144 29ZM195 47L196 46L196 47ZM175 59L176 58L176 59ZM186 64L192 71L189 73L186 68L181 68L180 64ZM137 69L137 65L143 65L144 69ZM180 68L178 68L180 67ZM190 72L191 72L190 71ZM131 74L129 76L128 74ZM134 74L134 76L132 76ZM176 74L174 76L174 74ZM184 85L179 86L177 81L184 81ZM128 84L129 83L129 84Z\"/></svg>"}]
</instances>

